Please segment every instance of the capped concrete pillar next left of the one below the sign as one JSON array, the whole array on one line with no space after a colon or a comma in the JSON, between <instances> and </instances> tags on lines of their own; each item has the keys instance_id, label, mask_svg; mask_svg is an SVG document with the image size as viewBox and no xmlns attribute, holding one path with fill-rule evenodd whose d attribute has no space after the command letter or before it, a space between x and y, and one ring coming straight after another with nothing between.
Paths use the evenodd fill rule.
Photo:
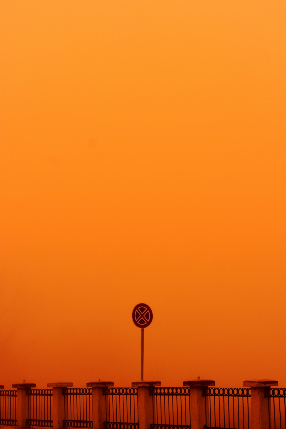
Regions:
<instances>
[{"instance_id":1,"label":"capped concrete pillar next left of the one below the sign","mask_svg":"<svg viewBox=\"0 0 286 429\"><path fill-rule=\"evenodd\" d=\"M92 420L93 429L103 429L103 423L109 420L108 396L103 394L103 388L114 386L113 381L90 381L86 384L92 387Z\"/></svg>"}]
</instances>

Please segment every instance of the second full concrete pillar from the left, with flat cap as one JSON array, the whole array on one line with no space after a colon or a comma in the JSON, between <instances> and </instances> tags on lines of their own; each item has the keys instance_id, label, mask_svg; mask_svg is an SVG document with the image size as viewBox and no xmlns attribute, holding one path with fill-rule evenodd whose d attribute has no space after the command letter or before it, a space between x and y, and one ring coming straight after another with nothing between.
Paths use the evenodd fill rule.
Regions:
<instances>
[{"instance_id":1,"label":"second full concrete pillar from the left, with flat cap","mask_svg":"<svg viewBox=\"0 0 286 429\"><path fill-rule=\"evenodd\" d=\"M63 420L65 420L65 396L63 387L72 387L69 381L57 381L48 383L47 387L53 388L53 408L51 410L51 420L53 420L53 429L62 429Z\"/></svg>"}]
</instances>

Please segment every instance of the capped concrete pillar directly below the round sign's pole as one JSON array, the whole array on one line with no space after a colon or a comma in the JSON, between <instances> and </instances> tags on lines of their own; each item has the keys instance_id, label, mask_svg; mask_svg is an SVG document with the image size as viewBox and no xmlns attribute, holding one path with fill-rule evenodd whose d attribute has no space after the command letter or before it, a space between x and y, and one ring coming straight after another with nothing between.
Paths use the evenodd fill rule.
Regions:
<instances>
[{"instance_id":1,"label":"capped concrete pillar directly below the round sign's pole","mask_svg":"<svg viewBox=\"0 0 286 429\"><path fill-rule=\"evenodd\" d=\"M150 429L153 424L153 396L150 387L161 386L161 381L134 381L132 387L138 388L139 428Z\"/></svg>"}]
</instances>

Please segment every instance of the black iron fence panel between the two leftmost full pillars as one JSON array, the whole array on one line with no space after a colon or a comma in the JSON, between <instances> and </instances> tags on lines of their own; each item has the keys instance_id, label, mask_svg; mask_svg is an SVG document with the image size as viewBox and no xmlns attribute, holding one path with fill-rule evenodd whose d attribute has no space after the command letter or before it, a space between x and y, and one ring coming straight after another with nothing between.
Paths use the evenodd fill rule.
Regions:
<instances>
[{"instance_id":1,"label":"black iron fence panel between the two leftmost full pillars","mask_svg":"<svg viewBox=\"0 0 286 429\"><path fill-rule=\"evenodd\" d=\"M51 399L52 389L26 389L28 396L27 426L52 427Z\"/></svg>"}]
</instances>

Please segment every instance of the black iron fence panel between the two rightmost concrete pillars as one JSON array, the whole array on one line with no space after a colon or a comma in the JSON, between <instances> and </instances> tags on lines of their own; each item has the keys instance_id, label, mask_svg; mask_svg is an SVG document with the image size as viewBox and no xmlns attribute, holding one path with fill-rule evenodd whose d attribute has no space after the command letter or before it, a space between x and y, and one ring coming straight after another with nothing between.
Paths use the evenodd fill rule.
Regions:
<instances>
[{"instance_id":1,"label":"black iron fence panel between the two rightmost concrete pillars","mask_svg":"<svg viewBox=\"0 0 286 429\"><path fill-rule=\"evenodd\" d=\"M250 388L206 387L204 396L206 429L250 428ZM209 422L207 421L208 410Z\"/></svg>"}]
</instances>

